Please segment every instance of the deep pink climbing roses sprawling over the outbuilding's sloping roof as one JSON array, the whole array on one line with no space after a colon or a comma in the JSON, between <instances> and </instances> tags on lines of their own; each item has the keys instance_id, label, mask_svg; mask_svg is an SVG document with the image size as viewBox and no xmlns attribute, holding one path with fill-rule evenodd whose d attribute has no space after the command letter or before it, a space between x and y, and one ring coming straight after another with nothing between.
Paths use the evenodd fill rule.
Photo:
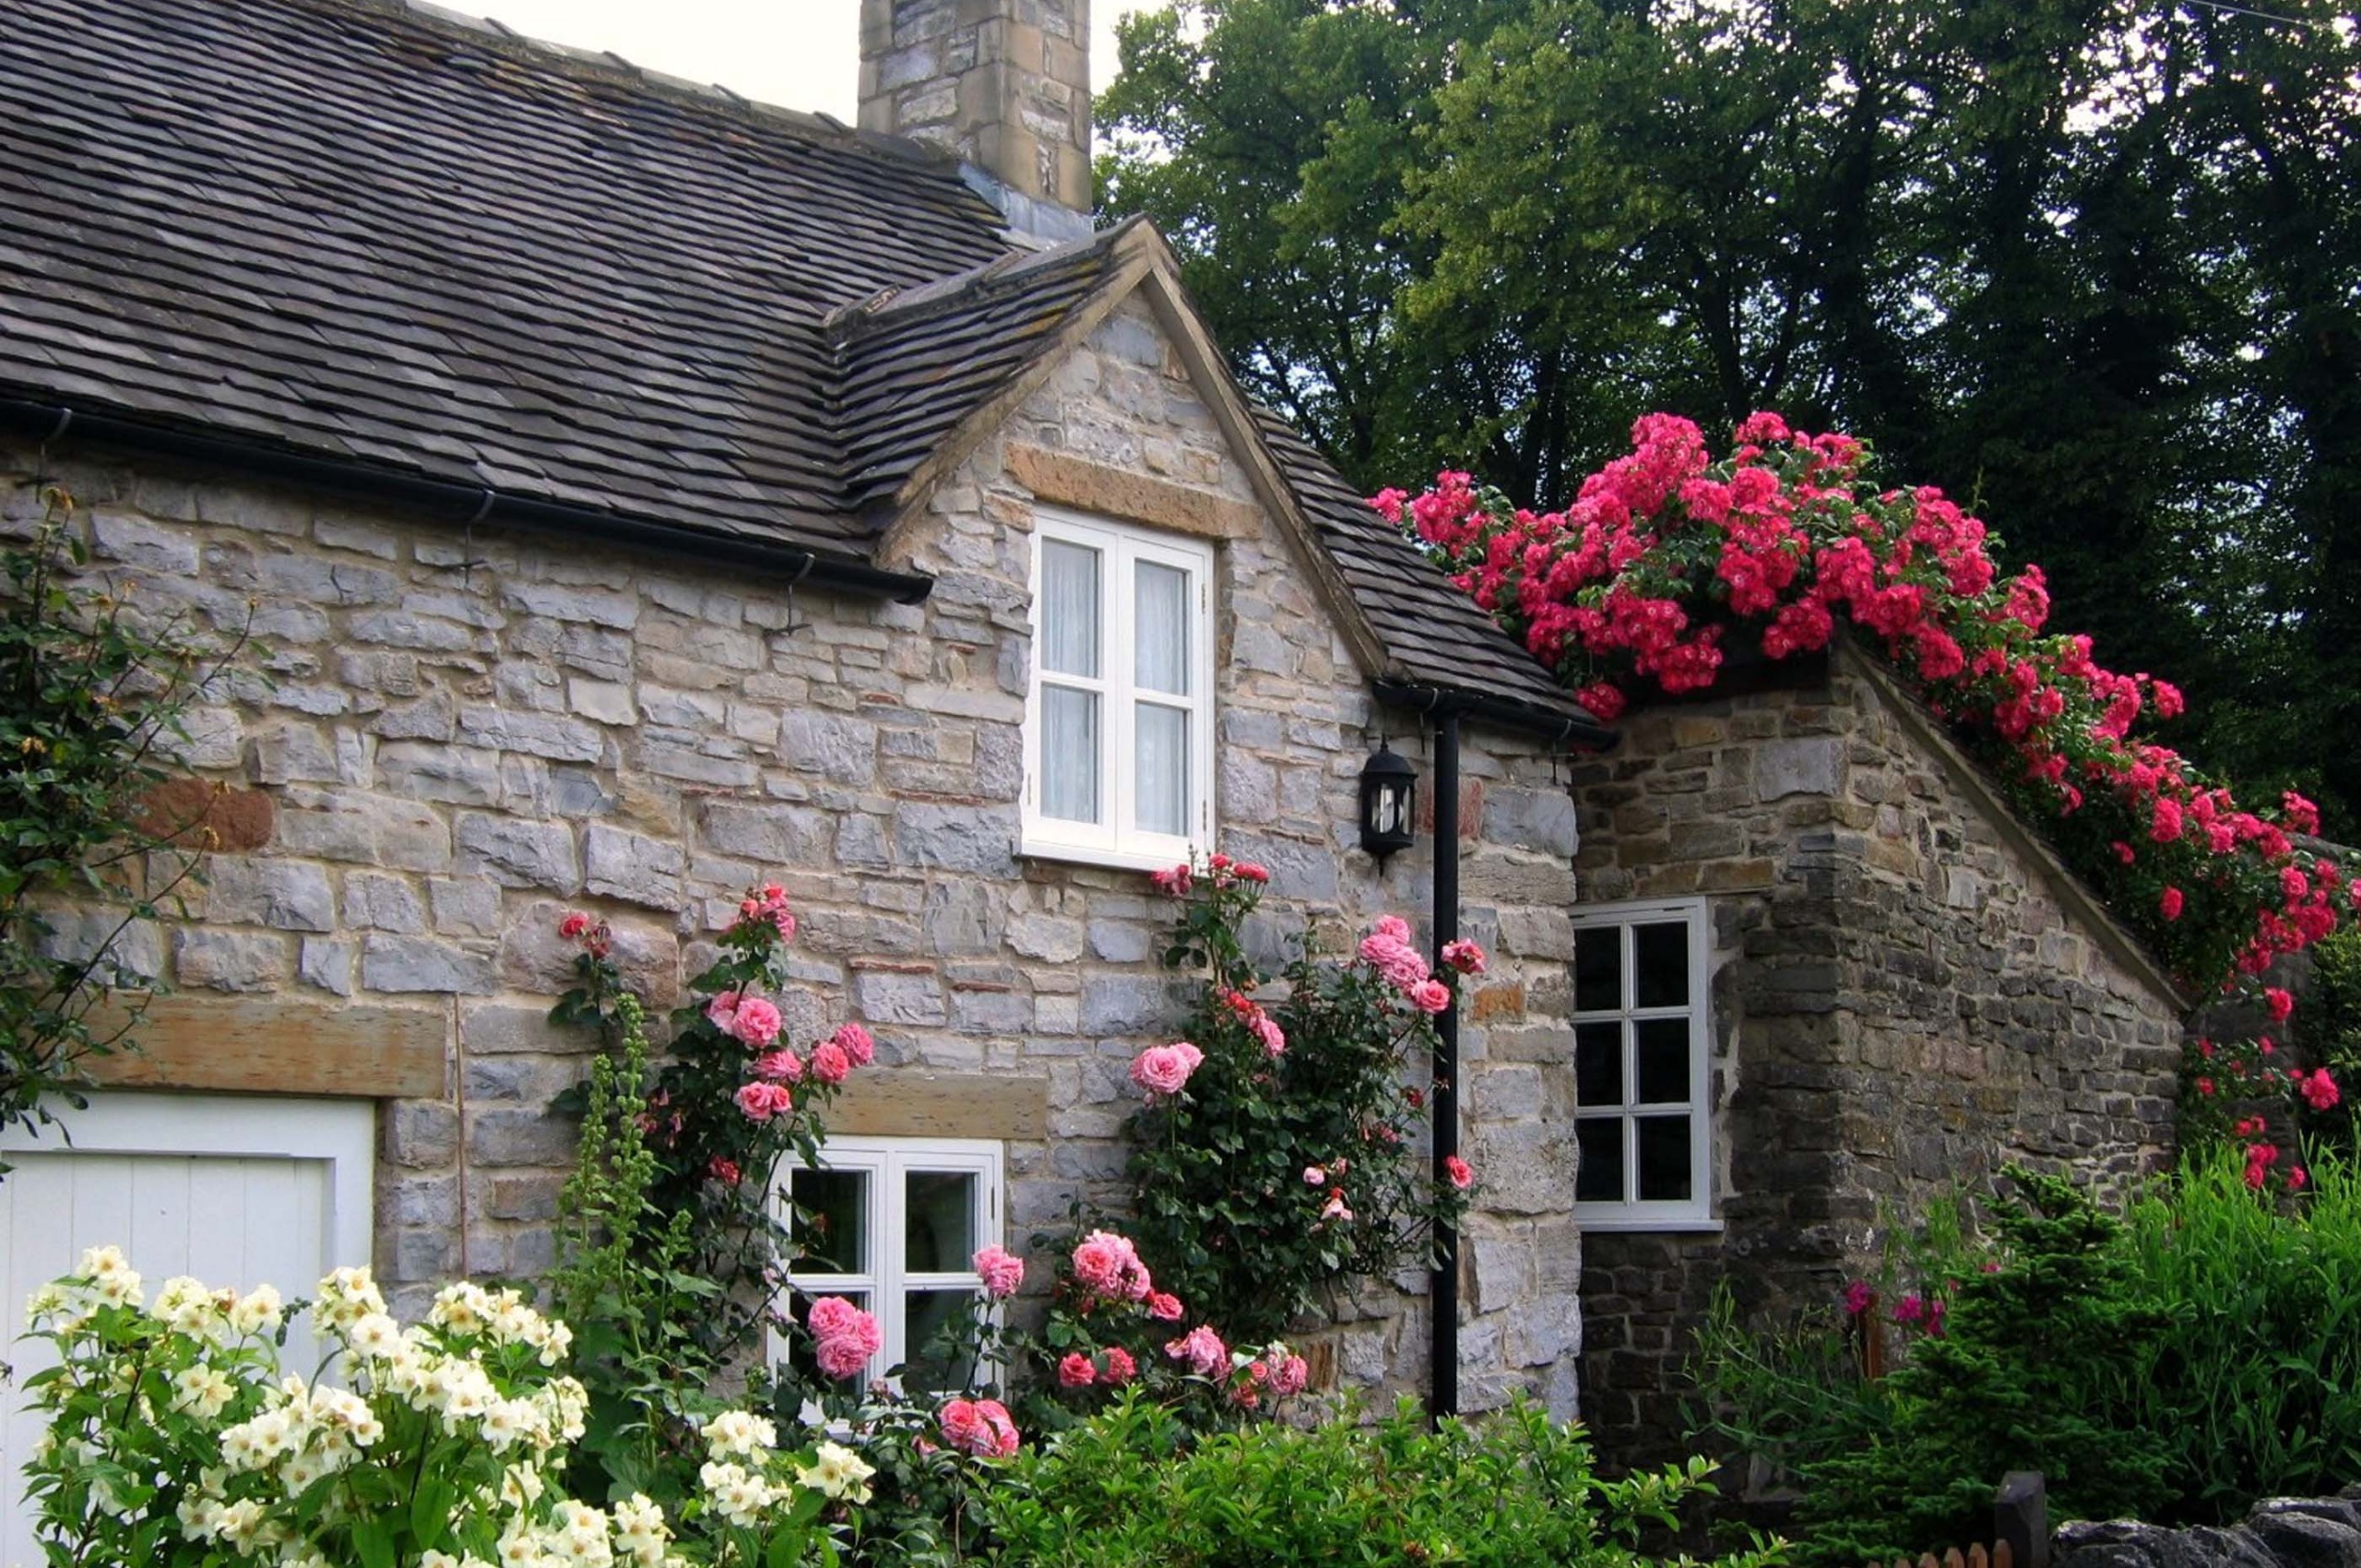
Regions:
<instances>
[{"instance_id":1,"label":"deep pink climbing roses sprawling over the outbuilding's sloping roof","mask_svg":"<svg viewBox=\"0 0 2361 1568\"><path fill-rule=\"evenodd\" d=\"M1372 505L1603 720L1648 692L1712 687L1740 642L1794 659L1849 628L1993 763L2191 992L2257 989L2276 959L2352 919L2361 888L2300 843L2319 831L2309 801L2250 810L2141 739L2137 725L2174 718L2182 692L2049 631L2040 567L2002 574L1979 517L1934 486L1872 486L1868 460L1860 442L1775 413L1738 425L1716 460L1698 425L1650 413L1631 453L1556 510L1518 508L1464 472ZM1412 985L1400 949L1372 961ZM2283 1023L2285 1004L2271 1006ZM2210 1115L2196 1131L2222 1136Z\"/></svg>"}]
</instances>

